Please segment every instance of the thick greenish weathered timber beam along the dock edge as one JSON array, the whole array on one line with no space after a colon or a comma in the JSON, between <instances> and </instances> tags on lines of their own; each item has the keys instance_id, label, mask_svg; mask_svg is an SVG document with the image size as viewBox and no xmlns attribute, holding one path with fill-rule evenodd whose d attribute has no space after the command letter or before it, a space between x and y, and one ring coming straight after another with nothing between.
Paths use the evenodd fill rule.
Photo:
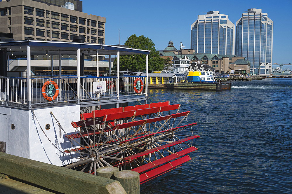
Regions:
<instances>
[{"instance_id":1,"label":"thick greenish weathered timber beam along the dock edge","mask_svg":"<svg viewBox=\"0 0 292 194\"><path fill-rule=\"evenodd\" d=\"M66 194L126 194L119 181L1 152L0 173Z\"/></svg>"}]
</instances>

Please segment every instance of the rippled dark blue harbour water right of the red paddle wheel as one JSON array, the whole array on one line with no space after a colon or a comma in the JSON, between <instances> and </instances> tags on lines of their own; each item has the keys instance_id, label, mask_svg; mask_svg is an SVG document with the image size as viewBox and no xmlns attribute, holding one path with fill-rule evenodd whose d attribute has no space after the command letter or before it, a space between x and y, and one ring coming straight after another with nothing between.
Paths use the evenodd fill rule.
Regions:
<instances>
[{"instance_id":1,"label":"rippled dark blue harbour water right of the red paddle wheel","mask_svg":"<svg viewBox=\"0 0 292 194\"><path fill-rule=\"evenodd\" d=\"M197 122L192 160L140 185L140 193L292 193L292 79L232 82L222 92L148 91ZM190 130L185 130L191 135Z\"/></svg>"}]
</instances>

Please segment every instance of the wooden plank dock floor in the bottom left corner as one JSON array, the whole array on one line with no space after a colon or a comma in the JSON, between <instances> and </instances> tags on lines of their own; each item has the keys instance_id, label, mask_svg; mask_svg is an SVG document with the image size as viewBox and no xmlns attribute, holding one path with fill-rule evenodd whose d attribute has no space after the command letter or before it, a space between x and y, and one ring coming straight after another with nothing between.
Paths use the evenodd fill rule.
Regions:
<instances>
[{"instance_id":1,"label":"wooden plank dock floor in the bottom left corner","mask_svg":"<svg viewBox=\"0 0 292 194\"><path fill-rule=\"evenodd\" d=\"M28 183L26 181L22 181L20 179L15 178L2 178L0 177L0 190L3 194L18 194L18 193L25 193L25 194L51 194L51 193L59 193L53 191L51 189L47 189L32 183ZM62 194L62 193L59 193Z\"/></svg>"}]
</instances>

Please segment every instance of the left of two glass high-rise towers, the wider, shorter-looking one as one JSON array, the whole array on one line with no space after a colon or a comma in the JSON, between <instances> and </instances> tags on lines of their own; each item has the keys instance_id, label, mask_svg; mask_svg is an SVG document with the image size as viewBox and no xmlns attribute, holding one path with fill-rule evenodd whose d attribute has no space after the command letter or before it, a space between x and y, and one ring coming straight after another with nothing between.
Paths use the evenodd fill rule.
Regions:
<instances>
[{"instance_id":1,"label":"left of two glass high-rise towers, the wider, shorter-looking one","mask_svg":"<svg viewBox=\"0 0 292 194\"><path fill-rule=\"evenodd\" d=\"M191 25L191 49L197 53L234 55L235 26L228 15L209 11Z\"/></svg>"}]
</instances>

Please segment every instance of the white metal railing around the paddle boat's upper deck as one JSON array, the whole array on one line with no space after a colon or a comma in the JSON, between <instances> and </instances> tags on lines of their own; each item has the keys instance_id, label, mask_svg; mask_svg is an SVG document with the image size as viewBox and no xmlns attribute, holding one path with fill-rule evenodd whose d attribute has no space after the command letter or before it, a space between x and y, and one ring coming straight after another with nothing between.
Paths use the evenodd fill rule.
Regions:
<instances>
[{"instance_id":1,"label":"white metal railing around the paddle boat's upper deck","mask_svg":"<svg viewBox=\"0 0 292 194\"><path fill-rule=\"evenodd\" d=\"M134 81L140 78L143 89L138 94L134 90ZM80 89L78 97L78 77L43 77L31 78L30 104L47 104L58 102L79 103L85 101L97 101L103 99L117 99L117 97L146 94L146 76L123 76L119 78L119 93L117 92L117 77L80 77ZM52 100L46 100L42 95L42 87L47 81L54 81L59 88L58 96ZM104 92L94 92L93 83L105 81ZM48 87L47 87L48 88ZM54 91L55 92L55 91ZM0 104L13 106L13 103L29 104L27 102L27 78L0 77Z\"/></svg>"}]
</instances>

